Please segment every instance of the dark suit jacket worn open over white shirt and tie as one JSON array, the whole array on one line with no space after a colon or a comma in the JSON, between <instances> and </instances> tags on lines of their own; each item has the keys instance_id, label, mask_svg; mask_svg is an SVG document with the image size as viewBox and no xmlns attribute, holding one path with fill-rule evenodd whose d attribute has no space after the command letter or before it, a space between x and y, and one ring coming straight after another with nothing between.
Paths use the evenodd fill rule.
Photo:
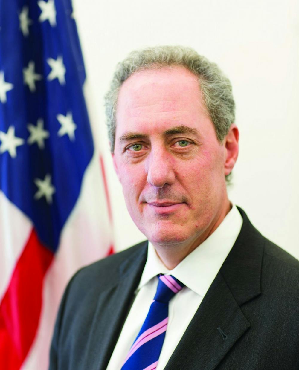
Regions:
<instances>
[{"instance_id":1,"label":"dark suit jacket worn open over white shirt and tie","mask_svg":"<svg viewBox=\"0 0 299 370\"><path fill-rule=\"evenodd\" d=\"M299 369L299 262L240 212L238 239L167 370ZM51 370L106 369L146 258L143 242L71 279L54 330Z\"/></svg>"}]
</instances>

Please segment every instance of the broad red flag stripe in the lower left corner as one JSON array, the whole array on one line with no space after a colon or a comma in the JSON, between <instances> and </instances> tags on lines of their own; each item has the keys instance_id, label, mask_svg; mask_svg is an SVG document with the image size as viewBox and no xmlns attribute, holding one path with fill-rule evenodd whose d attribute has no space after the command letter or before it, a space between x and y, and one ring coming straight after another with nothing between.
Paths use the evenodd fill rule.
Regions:
<instances>
[{"instance_id":1,"label":"broad red flag stripe in the lower left corner","mask_svg":"<svg viewBox=\"0 0 299 370\"><path fill-rule=\"evenodd\" d=\"M43 279L52 260L53 253L33 229L0 304L2 369L20 369L30 350L41 312Z\"/></svg>"}]
</instances>

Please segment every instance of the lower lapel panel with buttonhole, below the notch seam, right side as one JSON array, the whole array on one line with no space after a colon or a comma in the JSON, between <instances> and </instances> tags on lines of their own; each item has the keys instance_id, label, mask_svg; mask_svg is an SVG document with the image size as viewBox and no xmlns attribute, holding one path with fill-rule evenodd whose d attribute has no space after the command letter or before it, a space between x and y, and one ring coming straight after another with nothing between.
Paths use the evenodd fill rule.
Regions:
<instances>
[{"instance_id":1,"label":"lower lapel panel with buttonhole, below the notch seam, right side","mask_svg":"<svg viewBox=\"0 0 299 370\"><path fill-rule=\"evenodd\" d=\"M218 273L165 370L215 369L249 327Z\"/></svg>"}]
</instances>

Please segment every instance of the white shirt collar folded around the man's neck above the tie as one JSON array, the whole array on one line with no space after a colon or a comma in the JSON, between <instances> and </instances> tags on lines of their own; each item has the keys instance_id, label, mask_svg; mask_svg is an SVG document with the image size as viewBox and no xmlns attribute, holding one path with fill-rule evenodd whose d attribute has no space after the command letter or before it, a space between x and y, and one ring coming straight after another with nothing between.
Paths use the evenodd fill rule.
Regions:
<instances>
[{"instance_id":1,"label":"white shirt collar folded around the man's neck above the tie","mask_svg":"<svg viewBox=\"0 0 299 370\"><path fill-rule=\"evenodd\" d=\"M154 246L149 242L147 262L137 290L162 273L175 276L189 289L204 297L232 249L242 222L238 209L235 205L232 206L218 228L172 270L164 266Z\"/></svg>"}]
</instances>

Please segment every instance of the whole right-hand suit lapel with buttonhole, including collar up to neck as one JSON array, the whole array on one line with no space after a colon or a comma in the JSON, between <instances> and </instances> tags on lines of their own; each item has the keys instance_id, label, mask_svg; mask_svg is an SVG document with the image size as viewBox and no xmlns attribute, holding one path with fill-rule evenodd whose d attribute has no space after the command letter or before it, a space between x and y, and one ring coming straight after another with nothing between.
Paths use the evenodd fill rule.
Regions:
<instances>
[{"instance_id":1,"label":"whole right-hand suit lapel with buttonhole, including collar up to neck","mask_svg":"<svg viewBox=\"0 0 299 370\"><path fill-rule=\"evenodd\" d=\"M213 370L250 328L240 306L261 293L263 242L242 209L239 211L243 225L235 245L165 370Z\"/></svg>"}]
</instances>

